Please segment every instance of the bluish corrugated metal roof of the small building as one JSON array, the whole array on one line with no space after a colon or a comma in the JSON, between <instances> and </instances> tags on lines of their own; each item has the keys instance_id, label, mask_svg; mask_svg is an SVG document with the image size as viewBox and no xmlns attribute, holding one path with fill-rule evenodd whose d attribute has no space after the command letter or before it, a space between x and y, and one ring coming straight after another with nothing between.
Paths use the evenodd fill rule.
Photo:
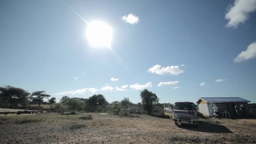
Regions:
<instances>
[{"instance_id":1,"label":"bluish corrugated metal roof of the small building","mask_svg":"<svg viewBox=\"0 0 256 144\"><path fill-rule=\"evenodd\" d=\"M242 99L240 97L222 97L222 98L215 97L215 98L200 98L200 99L208 103L251 102L246 99Z\"/></svg>"}]
</instances>

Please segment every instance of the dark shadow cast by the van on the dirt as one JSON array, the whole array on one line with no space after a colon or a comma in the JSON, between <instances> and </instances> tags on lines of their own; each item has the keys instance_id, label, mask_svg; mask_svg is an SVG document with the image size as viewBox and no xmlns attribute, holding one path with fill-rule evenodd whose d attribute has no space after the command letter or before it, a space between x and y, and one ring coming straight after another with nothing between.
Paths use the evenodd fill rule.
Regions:
<instances>
[{"instance_id":1,"label":"dark shadow cast by the van on the dirt","mask_svg":"<svg viewBox=\"0 0 256 144\"><path fill-rule=\"evenodd\" d=\"M206 123L199 121L199 125L179 125L179 128L184 128L190 131L200 131L207 133L233 133L223 125Z\"/></svg>"}]
</instances>

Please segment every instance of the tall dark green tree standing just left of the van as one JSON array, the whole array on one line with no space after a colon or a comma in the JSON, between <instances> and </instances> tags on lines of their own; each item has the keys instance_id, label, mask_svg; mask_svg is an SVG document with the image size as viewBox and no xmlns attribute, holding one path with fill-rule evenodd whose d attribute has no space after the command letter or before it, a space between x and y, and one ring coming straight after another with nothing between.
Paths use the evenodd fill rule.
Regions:
<instances>
[{"instance_id":1,"label":"tall dark green tree standing just left of the van","mask_svg":"<svg viewBox=\"0 0 256 144\"><path fill-rule=\"evenodd\" d=\"M141 96L141 103L144 109L150 115L152 113L153 105L157 104L159 101L159 99L157 98L157 95L155 93L152 93L152 91L148 91L147 89L144 89L143 91L141 91L140 96Z\"/></svg>"}]
</instances>

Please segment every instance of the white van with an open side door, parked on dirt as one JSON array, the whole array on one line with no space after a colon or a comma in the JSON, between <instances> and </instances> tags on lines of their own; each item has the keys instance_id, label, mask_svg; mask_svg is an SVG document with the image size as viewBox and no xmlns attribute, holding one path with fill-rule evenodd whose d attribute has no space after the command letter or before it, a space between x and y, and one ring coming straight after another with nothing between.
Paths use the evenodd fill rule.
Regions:
<instances>
[{"instance_id":1,"label":"white van with an open side door, parked on dirt","mask_svg":"<svg viewBox=\"0 0 256 144\"><path fill-rule=\"evenodd\" d=\"M175 125L178 125L179 123L192 125L198 124L197 109L193 102L177 101L174 106L171 104L165 104L164 110L165 115L172 118Z\"/></svg>"}]
</instances>

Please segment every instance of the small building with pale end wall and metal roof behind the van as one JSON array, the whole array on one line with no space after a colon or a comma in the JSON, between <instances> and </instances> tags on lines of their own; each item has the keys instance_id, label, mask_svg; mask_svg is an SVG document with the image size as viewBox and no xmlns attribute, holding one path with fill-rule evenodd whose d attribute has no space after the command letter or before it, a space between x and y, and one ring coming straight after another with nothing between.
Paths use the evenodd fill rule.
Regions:
<instances>
[{"instance_id":1,"label":"small building with pale end wall and metal roof behind the van","mask_svg":"<svg viewBox=\"0 0 256 144\"><path fill-rule=\"evenodd\" d=\"M199 112L205 116L213 115L213 105L215 104L219 107L219 115L222 117L221 113L226 111L229 112L231 118L235 118L235 105L240 107L243 104L245 107L246 117L249 115L248 101L240 97L215 97L215 98L200 98L197 101Z\"/></svg>"}]
</instances>

